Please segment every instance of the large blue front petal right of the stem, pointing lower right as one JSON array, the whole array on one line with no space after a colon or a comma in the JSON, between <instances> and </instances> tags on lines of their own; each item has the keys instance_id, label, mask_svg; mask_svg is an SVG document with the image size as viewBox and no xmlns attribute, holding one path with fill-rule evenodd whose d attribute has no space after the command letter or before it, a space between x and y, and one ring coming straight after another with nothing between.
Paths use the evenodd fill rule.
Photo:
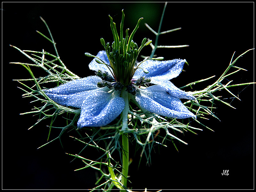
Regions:
<instances>
[{"instance_id":1,"label":"large blue front petal right of the stem, pointing lower right","mask_svg":"<svg viewBox=\"0 0 256 192\"><path fill-rule=\"evenodd\" d=\"M149 112L173 118L188 118L196 116L178 99L168 94L164 88L153 85L138 91L136 101Z\"/></svg>"}]
</instances>

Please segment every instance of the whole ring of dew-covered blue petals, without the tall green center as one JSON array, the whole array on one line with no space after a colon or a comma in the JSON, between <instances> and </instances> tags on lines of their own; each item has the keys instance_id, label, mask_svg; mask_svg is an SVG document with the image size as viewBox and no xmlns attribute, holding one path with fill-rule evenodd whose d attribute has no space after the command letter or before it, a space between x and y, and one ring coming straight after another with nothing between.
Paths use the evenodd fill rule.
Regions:
<instances>
[{"instance_id":1,"label":"whole ring of dew-covered blue petals, without the tall green center","mask_svg":"<svg viewBox=\"0 0 256 192\"><path fill-rule=\"evenodd\" d=\"M120 97L121 90L128 91L138 107L151 113L173 118L196 118L180 100L196 100L195 97L169 81L180 74L185 61L145 60L140 63L140 68L136 68L130 83L124 85L118 84L115 73L108 67L107 53L100 51L89 64L89 68L96 71L96 76L76 79L43 91L61 105L81 108L78 128L105 126L115 120L125 107L125 101ZM149 81L155 85L141 86Z\"/></svg>"}]
</instances>

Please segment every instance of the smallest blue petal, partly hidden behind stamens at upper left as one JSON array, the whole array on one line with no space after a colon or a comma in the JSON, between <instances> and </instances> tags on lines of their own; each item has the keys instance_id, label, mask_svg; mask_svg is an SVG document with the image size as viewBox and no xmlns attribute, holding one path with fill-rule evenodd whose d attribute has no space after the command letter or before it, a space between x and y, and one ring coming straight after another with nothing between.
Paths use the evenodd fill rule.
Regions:
<instances>
[{"instance_id":1,"label":"smallest blue petal, partly hidden behind stamens at upper left","mask_svg":"<svg viewBox=\"0 0 256 192\"><path fill-rule=\"evenodd\" d=\"M96 57L100 58L101 60L103 60L106 64L109 65L109 60L108 60L108 56L107 56L107 53L106 51L100 51L98 52L98 54L96 55ZM94 71L98 71L98 70L101 70L101 71L106 71L108 72L109 75L112 76L110 70L108 69L108 67L104 64L100 64L100 63L97 63L96 60L98 60L97 58L94 58L91 63L89 64L89 68L91 70L94 70Z\"/></svg>"}]
</instances>

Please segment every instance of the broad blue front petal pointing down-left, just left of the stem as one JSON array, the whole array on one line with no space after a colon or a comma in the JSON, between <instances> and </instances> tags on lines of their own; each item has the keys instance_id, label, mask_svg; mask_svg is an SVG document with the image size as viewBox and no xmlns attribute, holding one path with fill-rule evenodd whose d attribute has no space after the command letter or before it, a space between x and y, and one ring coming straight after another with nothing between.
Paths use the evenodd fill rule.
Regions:
<instances>
[{"instance_id":1,"label":"broad blue front petal pointing down-left, just left of the stem","mask_svg":"<svg viewBox=\"0 0 256 192\"><path fill-rule=\"evenodd\" d=\"M77 127L100 127L115 120L125 106L124 99L119 95L119 91L115 93L97 91L94 94L87 95L82 103Z\"/></svg>"}]
</instances>

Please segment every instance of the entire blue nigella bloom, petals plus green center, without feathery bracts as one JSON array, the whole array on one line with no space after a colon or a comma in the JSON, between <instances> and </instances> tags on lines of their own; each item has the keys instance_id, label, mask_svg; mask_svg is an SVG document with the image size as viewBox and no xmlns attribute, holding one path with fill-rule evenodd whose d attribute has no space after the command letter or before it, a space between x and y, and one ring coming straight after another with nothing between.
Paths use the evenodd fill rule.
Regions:
<instances>
[{"instance_id":1,"label":"entire blue nigella bloom, petals plus green center, without feathery bracts","mask_svg":"<svg viewBox=\"0 0 256 192\"><path fill-rule=\"evenodd\" d=\"M132 99L139 108L158 115L173 118L196 117L181 102L181 98L196 100L194 96L173 85L169 80L177 77L186 60L167 60L150 58L138 63L140 50L151 43L143 39L141 46L132 41L140 20L131 36L123 38L124 12L122 14L120 40L116 24L111 20L111 30L114 36L112 46L101 44L105 51L100 51L94 57L89 68L96 72L96 76L88 76L70 81L56 88L43 90L53 101L61 105L81 108L77 127L105 126L115 120L124 108L129 109ZM112 47L112 51L111 51ZM148 88L146 83L155 84ZM127 111L127 110L126 110ZM123 114L123 116L127 113Z\"/></svg>"}]
</instances>

